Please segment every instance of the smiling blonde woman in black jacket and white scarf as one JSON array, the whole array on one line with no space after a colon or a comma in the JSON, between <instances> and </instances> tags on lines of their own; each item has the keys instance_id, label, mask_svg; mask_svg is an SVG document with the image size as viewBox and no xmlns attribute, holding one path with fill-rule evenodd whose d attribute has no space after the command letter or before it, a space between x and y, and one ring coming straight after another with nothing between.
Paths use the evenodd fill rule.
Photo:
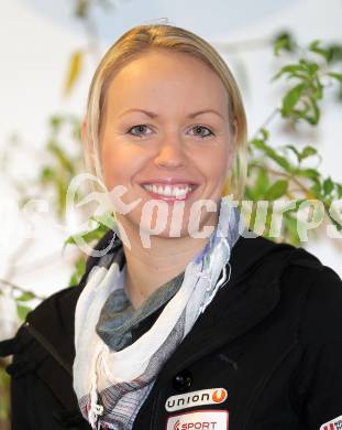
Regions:
<instances>
[{"instance_id":1,"label":"smiling blonde woman in black jacket and white scarf","mask_svg":"<svg viewBox=\"0 0 342 430\"><path fill-rule=\"evenodd\" d=\"M93 76L82 141L117 225L79 286L2 343L13 429L341 428L341 279L255 237L225 195L243 195L246 120L212 46L128 31Z\"/></svg>"}]
</instances>

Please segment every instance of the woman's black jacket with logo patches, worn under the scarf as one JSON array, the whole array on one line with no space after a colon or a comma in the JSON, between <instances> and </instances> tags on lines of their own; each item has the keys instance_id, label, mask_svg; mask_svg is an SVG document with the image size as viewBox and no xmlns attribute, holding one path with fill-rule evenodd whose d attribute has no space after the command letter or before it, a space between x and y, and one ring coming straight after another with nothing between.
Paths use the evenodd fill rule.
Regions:
<instances>
[{"instance_id":1,"label":"woman's black jacket with logo patches, worn under the scarf","mask_svg":"<svg viewBox=\"0 0 342 430\"><path fill-rule=\"evenodd\" d=\"M108 233L97 249L110 239ZM75 307L96 261L88 258L79 286L45 300L13 340L0 343L0 355L14 354L13 430L90 428L71 368ZM163 366L134 430L319 430L342 416L339 276L302 248L263 237L240 237L230 264L229 282ZM227 390L225 400L201 405L209 398L202 390L214 388ZM229 423L219 424L218 413Z\"/></svg>"}]
</instances>

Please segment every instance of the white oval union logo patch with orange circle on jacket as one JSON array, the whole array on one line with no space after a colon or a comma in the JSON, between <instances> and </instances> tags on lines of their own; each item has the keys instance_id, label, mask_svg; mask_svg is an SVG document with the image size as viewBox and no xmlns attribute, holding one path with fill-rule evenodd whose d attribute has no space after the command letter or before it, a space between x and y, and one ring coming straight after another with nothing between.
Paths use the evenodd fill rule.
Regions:
<instances>
[{"instance_id":1,"label":"white oval union logo patch with orange circle on jacket","mask_svg":"<svg viewBox=\"0 0 342 430\"><path fill-rule=\"evenodd\" d=\"M173 412L194 406L219 405L225 401L227 397L228 393L225 388L201 389L199 391L190 391L169 397L166 400L165 408L168 412Z\"/></svg>"}]
</instances>

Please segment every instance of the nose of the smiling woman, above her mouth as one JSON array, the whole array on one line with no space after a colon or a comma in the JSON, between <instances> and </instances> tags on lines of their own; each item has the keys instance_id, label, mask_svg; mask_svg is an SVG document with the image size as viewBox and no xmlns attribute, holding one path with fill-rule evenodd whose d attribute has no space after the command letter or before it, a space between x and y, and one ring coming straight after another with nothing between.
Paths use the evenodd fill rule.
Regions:
<instances>
[{"instance_id":1,"label":"nose of the smiling woman, above her mouth","mask_svg":"<svg viewBox=\"0 0 342 430\"><path fill-rule=\"evenodd\" d=\"M186 164L186 154L181 139L172 138L161 143L154 160L157 166L180 168Z\"/></svg>"}]
</instances>

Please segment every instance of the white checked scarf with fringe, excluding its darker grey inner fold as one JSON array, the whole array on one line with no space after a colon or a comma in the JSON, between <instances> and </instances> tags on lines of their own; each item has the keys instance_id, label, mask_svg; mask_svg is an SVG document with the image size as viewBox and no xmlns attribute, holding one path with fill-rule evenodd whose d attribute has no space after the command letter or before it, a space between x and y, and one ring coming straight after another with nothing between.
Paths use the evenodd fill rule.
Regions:
<instances>
[{"instance_id":1,"label":"white checked scarf with fringe, excluding its darker grey inner fold","mask_svg":"<svg viewBox=\"0 0 342 430\"><path fill-rule=\"evenodd\" d=\"M225 266L241 228L239 211L222 197L218 226L187 265L180 289L153 326L118 352L99 337L96 325L109 294L123 288L125 266L120 271L113 256L104 255L91 269L76 307L74 389L92 429L132 429L159 369L227 281Z\"/></svg>"}]
</instances>

